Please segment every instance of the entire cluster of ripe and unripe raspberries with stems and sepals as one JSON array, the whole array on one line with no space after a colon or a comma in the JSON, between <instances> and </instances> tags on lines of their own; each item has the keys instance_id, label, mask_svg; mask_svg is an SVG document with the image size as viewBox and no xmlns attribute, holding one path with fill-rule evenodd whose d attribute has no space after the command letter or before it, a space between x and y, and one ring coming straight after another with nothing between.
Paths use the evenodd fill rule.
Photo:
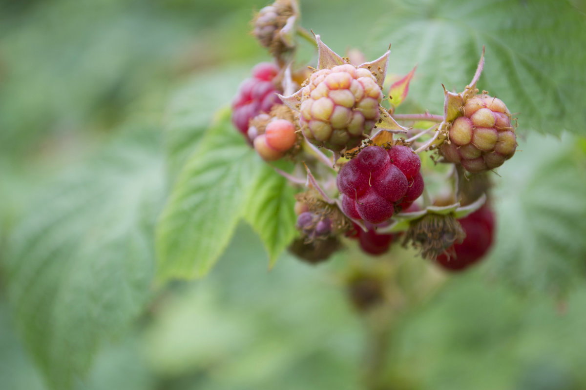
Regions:
<instances>
[{"instance_id":1,"label":"entire cluster of ripe and unripe raspberries with stems and sepals","mask_svg":"<svg viewBox=\"0 0 586 390\"><path fill-rule=\"evenodd\" d=\"M299 187L299 234L289 250L319 263L339 250L341 237L346 236L374 256L401 240L403 246L413 244L422 257L437 259L449 270L478 261L492 243L492 212L482 208L461 220L456 216L489 198L492 184L486 175L512 157L517 147L505 103L486 92L478 94L484 53L464 91L444 88L444 115L401 113L398 106L407 97L415 69L390 85L388 95L394 98L392 108L386 109L381 88L390 51L369 62L360 53L342 57L314 34L315 68L297 67L295 37L312 39L299 25L299 15L297 0L275 0L255 15L253 36L274 63L254 67L253 77L240 85L232 104L234 125L260 157L267 162L290 160L274 167ZM438 125L428 127L424 122ZM375 127L379 131L370 136ZM394 134L399 133L405 138L397 139ZM449 181L449 186L433 186L444 192L449 187L448 203L431 205L426 196L419 210L414 201L423 194L424 180L417 153L436 149L441 162L455 164L456 169L449 178L432 174L426 181ZM426 173L433 169L425 166ZM466 171L485 175L465 175ZM384 230L393 233L381 233ZM351 296L364 307L381 298L383 281L380 275L366 276L350 283Z\"/></svg>"}]
</instances>

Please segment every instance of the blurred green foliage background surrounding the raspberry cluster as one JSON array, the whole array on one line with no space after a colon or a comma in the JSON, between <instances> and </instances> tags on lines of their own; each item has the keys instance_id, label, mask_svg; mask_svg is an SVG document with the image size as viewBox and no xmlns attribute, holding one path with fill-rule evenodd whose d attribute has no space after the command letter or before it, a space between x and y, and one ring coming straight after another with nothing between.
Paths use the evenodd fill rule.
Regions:
<instances>
[{"instance_id":1,"label":"blurred green foliage background surrounding the raspberry cluster","mask_svg":"<svg viewBox=\"0 0 586 390\"><path fill-rule=\"evenodd\" d=\"M584 119L572 111L583 98L565 89L584 85L584 7L564 2L565 13L552 15L546 3L526 19L550 20L545 29L574 41L551 49L558 42L542 40L546 29L530 47L544 60L573 51L560 61L567 73L527 65L539 51L515 54L531 29L502 2L490 13L481 2L407 1L400 13L382 0L301 1L302 25L332 49L376 58L392 43L391 75L418 63L409 107L441 113L441 83L464 88L486 44L480 88L509 98L512 111L543 113L520 119L522 151L495 178L493 253L461 275L431 270L441 289L394 319L384 368L393 389L586 388L586 141L584 125L573 128L578 135L563 131ZM260 240L241 225L205 279L152 284L152 229L175 175L213 112L230 104L255 63L270 60L247 34L253 9L264 5L0 0L2 389L363 388L365 323L342 283L356 251L319 267L284 254L267 272ZM567 15L574 16L565 23ZM519 30L506 35L489 18ZM451 39L462 30L472 38ZM315 60L306 43L299 56ZM526 78L542 82L539 93ZM534 126L553 120L560 126ZM137 245L120 254L118 238L98 227L131 220ZM408 261L408 270L425 267L409 253L388 256ZM81 269L94 259L99 266ZM124 299L131 315L113 305L111 318L69 316L60 327L60 313L81 312L67 295L83 285L79 275L113 285L130 279L146 292L84 292L105 310ZM78 337L86 327L105 330Z\"/></svg>"}]
</instances>

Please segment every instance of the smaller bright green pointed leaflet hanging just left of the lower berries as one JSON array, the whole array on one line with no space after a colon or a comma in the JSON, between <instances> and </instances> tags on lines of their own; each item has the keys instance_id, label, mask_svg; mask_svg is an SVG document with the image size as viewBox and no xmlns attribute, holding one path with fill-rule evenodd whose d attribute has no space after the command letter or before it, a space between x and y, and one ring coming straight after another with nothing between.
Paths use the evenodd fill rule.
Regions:
<instances>
[{"instance_id":1,"label":"smaller bright green pointed leaflet hanging just left of the lower berries","mask_svg":"<svg viewBox=\"0 0 586 390\"><path fill-rule=\"evenodd\" d=\"M244 218L263 241L269 267L297 234L295 192L287 179L270 165L264 165L254 181Z\"/></svg>"}]
</instances>

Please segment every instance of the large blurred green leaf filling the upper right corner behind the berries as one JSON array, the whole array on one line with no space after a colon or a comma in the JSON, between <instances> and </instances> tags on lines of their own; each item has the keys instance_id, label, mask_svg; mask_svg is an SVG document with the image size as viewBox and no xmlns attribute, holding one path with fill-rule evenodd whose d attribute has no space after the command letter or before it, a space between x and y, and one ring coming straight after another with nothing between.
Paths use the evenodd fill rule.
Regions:
<instances>
[{"instance_id":1,"label":"large blurred green leaf filling the upper right corner behind the berries","mask_svg":"<svg viewBox=\"0 0 586 390\"><path fill-rule=\"evenodd\" d=\"M418 64L411 97L441 113L441 84L462 91L482 46L478 88L507 104L521 129L586 134L586 24L565 1L391 1L376 25L373 53L392 43L389 73Z\"/></svg>"}]
</instances>

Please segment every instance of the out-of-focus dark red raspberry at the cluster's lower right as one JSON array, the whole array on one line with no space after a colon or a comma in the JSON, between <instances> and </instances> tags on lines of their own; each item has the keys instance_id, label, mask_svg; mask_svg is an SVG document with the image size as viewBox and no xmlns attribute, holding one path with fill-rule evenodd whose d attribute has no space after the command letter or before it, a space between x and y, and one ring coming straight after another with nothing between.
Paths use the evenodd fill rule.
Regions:
<instances>
[{"instance_id":1,"label":"out-of-focus dark red raspberry at the cluster's lower right","mask_svg":"<svg viewBox=\"0 0 586 390\"><path fill-rule=\"evenodd\" d=\"M452 246L455 256L441 254L437 257L438 264L449 271L462 271L481 260L492 246L495 233L495 215L487 205L458 222L466 232L466 238L461 244Z\"/></svg>"}]
</instances>

